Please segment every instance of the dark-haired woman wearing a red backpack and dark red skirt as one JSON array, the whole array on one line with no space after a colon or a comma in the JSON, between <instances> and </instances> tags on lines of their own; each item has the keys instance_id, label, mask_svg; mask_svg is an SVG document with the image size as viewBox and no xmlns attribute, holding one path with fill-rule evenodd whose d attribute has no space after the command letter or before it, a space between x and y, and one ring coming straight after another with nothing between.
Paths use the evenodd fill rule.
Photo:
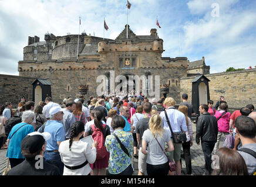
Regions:
<instances>
[{"instance_id":1,"label":"dark-haired woman wearing a red backpack and dark red skirt","mask_svg":"<svg viewBox=\"0 0 256 187\"><path fill-rule=\"evenodd\" d=\"M97 142L97 155L94 164L90 164L93 169L93 175L106 175L106 168L109 164L109 153L105 147L105 140L110 135L110 128L103 124L104 114L100 110L95 110L94 124L89 127L88 136L92 135L93 140Z\"/></svg>"}]
</instances>

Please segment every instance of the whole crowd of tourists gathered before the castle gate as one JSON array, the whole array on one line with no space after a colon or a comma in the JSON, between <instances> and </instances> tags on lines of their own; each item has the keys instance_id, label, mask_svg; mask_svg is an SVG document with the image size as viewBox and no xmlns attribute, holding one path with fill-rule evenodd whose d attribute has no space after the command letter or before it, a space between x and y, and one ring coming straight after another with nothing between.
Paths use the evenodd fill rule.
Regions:
<instances>
[{"instance_id":1,"label":"whole crowd of tourists gathered before the castle gate","mask_svg":"<svg viewBox=\"0 0 256 187\"><path fill-rule=\"evenodd\" d=\"M181 158L185 174L192 175L193 140L201 143L204 175L256 175L254 106L231 114L221 96L215 106L211 100L201 104L193 124L195 108L186 93L182 99L177 106L170 97L149 102L142 95L102 95L85 102L80 96L59 105L47 97L39 103L22 99L16 110L6 102L0 147L7 148L7 175L133 175L133 158L138 175L181 175ZM91 144L83 141L90 136ZM229 146L219 148L222 136Z\"/></svg>"}]
</instances>

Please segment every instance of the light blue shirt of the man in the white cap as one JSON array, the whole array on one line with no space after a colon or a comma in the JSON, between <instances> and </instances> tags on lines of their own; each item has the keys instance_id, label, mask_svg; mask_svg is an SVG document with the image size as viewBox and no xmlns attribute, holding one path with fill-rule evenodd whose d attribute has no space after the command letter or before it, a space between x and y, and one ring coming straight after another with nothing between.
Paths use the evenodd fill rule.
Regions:
<instances>
[{"instance_id":1,"label":"light blue shirt of the man in the white cap","mask_svg":"<svg viewBox=\"0 0 256 187\"><path fill-rule=\"evenodd\" d=\"M42 129L42 126L39 128ZM45 132L50 133L51 138L47 140L46 151L59 150L57 141L65 140L65 129L63 124L56 120L48 120L45 124Z\"/></svg>"}]
</instances>

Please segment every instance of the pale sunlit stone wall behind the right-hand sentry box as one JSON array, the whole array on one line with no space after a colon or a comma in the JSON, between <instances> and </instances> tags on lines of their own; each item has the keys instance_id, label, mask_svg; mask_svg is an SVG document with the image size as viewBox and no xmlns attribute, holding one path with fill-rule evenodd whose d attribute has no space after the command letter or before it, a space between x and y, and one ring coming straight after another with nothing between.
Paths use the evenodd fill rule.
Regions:
<instances>
[{"instance_id":1,"label":"pale sunlit stone wall behind the right-hand sentry box","mask_svg":"<svg viewBox=\"0 0 256 187\"><path fill-rule=\"evenodd\" d=\"M205 75L209 82L210 99L215 103L223 95L228 103L228 108L242 108L252 104L256 106L256 69L233 72L222 72ZM180 79L180 98L182 93L188 94L191 102L191 81L194 77Z\"/></svg>"}]
</instances>

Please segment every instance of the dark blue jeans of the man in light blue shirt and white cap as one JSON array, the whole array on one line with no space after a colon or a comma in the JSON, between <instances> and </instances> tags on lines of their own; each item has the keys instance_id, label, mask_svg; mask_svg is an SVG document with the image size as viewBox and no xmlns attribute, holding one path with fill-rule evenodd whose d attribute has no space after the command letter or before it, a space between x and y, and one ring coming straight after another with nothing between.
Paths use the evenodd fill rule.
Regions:
<instances>
[{"instance_id":1,"label":"dark blue jeans of the man in light blue shirt and white cap","mask_svg":"<svg viewBox=\"0 0 256 187\"><path fill-rule=\"evenodd\" d=\"M45 154L43 154L43 156L45 157L46 162L58 167L60 171L60 175L63 175L64 164L61 161L59 152L55 153L53 151L45 151Z\"/></svg>"}]
</instances>

